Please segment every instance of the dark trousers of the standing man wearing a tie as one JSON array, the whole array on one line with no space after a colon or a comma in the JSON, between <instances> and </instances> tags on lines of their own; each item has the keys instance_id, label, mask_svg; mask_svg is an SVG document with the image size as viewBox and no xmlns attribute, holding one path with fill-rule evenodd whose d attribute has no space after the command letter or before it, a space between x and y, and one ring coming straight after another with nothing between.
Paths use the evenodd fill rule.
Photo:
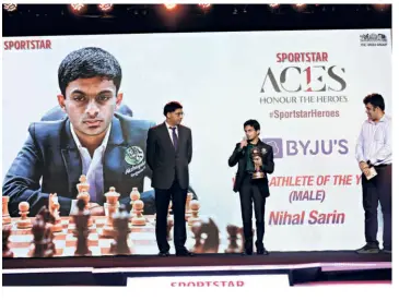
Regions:
<instances>
[{"instance_id":1,"label":"dark trousers of the standing man wearing a tie","mask_svg":"<svg viewBox=\"0 0 399 301\"><path fill-rule=\"evenodd\" d=\"M176 251L185 250L186 232L186 197L187 189L181 189L175 180L169 189L155 189L156 225L155 236L161 252L169 251L167 242L167 209L172 198L174 214L174 243Z\"/></svg>"}]
</instances>

